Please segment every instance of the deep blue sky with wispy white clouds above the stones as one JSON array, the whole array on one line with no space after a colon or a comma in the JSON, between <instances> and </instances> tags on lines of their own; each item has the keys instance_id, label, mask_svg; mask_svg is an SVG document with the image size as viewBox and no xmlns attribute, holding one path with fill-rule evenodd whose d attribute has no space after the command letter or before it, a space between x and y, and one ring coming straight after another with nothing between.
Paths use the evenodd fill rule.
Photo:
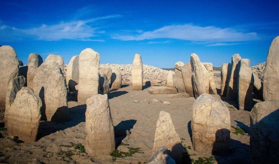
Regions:
<instances>
[{"instance_id":1,"label":"deep blue sky with wispy white clouds above the stones","mask_svg":"<svg viewBox=\"0 0 279 164\"><path fill-rule=\"evenodd\" d=\"M278 1L6 1L0 0L0 45L27 64L30 53L74 55L93 48L100 63L173 68L197 53L215 67L234 53L266 61L279 35Z\"/></svg>"}]
</instances>

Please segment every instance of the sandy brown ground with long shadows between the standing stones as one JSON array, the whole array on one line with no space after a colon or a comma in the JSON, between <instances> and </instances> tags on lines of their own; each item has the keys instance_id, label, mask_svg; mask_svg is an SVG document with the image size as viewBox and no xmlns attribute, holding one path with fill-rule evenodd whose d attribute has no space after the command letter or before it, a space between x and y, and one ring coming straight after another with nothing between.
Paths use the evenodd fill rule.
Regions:
<instances>
[{"instance_id":1,"label":"sandy brown ground with long shadows between the standing stones","mask_svg":"<svg viewBox=\"0 0 279 164\"><path fill-rule=\"evenodd\" d=\"M216 86L219 86L218 78ZM124 85L119 90L112 91L109 95L109 105L113 124L116 128L129 130L131 135L116 137L117 146L122 142L122 147L140 148L143 153L135 153L132 157L116 158L104 154L98 157L89 157L86 153L67 145L78 144L85 141L85 111L86 105L74 101L68 102L70 111L69 122L55 124L41 122L38 141L28 144L20 140L8 137L7 130L2 130L0 138L0 162L8 163L144 163L152 156L151 150L156 130L156 123L160 111L170 113L175 130L183 145L190 146L187 149L190 158L210 157L209 154L200 154L193 150L191 142L191 112L194 98L167 98L167 95L150 95L148 88L142 91L134 91L131 86ZM219 97L219 95L214 95ZM162 102L153 103L152 99L168 101L170 105ZM134 100L138 100L135 103ZM149 103L148 103L149 102ZM150 103L152 102L152 103ZM234 105L234 102L229 102ZM241 127L246 134L234 134L231 132L229 151L222 156L214 156L215 163L250 163L249 146L249 111L238 111L231 104L229 107L231 125ZM3 115L4 111L0 111ZM2 119L2 117L0 117ZM2 121L3 122L3 121ZM1 124L3 127L4 124ZM185 139L185 140L184 140ZM123 143L125 145L123 145ZM129 145L128 145L129 144ZM67 157L63 152L70 152ZM61 153L62 152L62 153Z\"/></svg>"}]
</instances>

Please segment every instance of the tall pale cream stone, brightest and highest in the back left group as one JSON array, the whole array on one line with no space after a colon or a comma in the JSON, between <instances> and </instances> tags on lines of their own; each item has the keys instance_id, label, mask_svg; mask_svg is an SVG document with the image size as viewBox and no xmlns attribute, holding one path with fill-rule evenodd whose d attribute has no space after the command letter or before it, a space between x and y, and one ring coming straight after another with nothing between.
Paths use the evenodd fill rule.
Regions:
<instances>
[{"instance_id":1,"label":"tall pale cream stone, brightest and highest in the back left group","mask_svg":"<svg viewBox=\"0 0 279 164\"><path fill-rule=\"evenodd\" d=\"M100 55L91 48L84 49L79 55L78 102L98 94Z\"/></svg>"}]
</instances>

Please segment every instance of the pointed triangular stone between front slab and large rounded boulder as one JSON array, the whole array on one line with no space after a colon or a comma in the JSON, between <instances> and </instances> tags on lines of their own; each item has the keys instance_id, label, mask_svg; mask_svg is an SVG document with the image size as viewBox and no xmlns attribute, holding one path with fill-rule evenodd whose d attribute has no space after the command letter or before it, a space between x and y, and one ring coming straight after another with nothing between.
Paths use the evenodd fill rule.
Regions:
<instances>
[{"instance_id":1,"label":"pointed triangular stone between front slab and large rounded boulder","mask_svg":"<svg viewBox=\"0 0 279 164\"><path fill-rule=\"evenodd\" d=\"M182 159L183 146L179 135L175 132L170 114L161 111L156 124L156 132L152 152L155 153L161 147L169 150L169 155L176 163Z\"/></svg>"}]
</instances>

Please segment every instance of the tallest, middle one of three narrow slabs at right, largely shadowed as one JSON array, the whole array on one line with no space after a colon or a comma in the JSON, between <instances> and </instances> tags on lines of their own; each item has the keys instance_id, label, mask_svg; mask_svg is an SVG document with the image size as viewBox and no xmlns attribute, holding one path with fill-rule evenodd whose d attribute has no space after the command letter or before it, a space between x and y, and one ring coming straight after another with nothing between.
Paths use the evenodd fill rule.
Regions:
<instances>
[{"instance_id":1,"label":"tallest, middle one of three narrow slabs at right, largely shadowed","mask_svg":"<svg viewBox=\"0 0 279 164\"><path fill-rule=\"evenodd\" d=\"M239 54L234 54L232 56L232 69L231 73L229 75L229 82L228 82L228 88L227 88L227 99L228 100L237 100L237 95L238 95L238 72L239 72L239 67L240 67L240 60L241 57Z\"/></svg>"}]
</instances>

